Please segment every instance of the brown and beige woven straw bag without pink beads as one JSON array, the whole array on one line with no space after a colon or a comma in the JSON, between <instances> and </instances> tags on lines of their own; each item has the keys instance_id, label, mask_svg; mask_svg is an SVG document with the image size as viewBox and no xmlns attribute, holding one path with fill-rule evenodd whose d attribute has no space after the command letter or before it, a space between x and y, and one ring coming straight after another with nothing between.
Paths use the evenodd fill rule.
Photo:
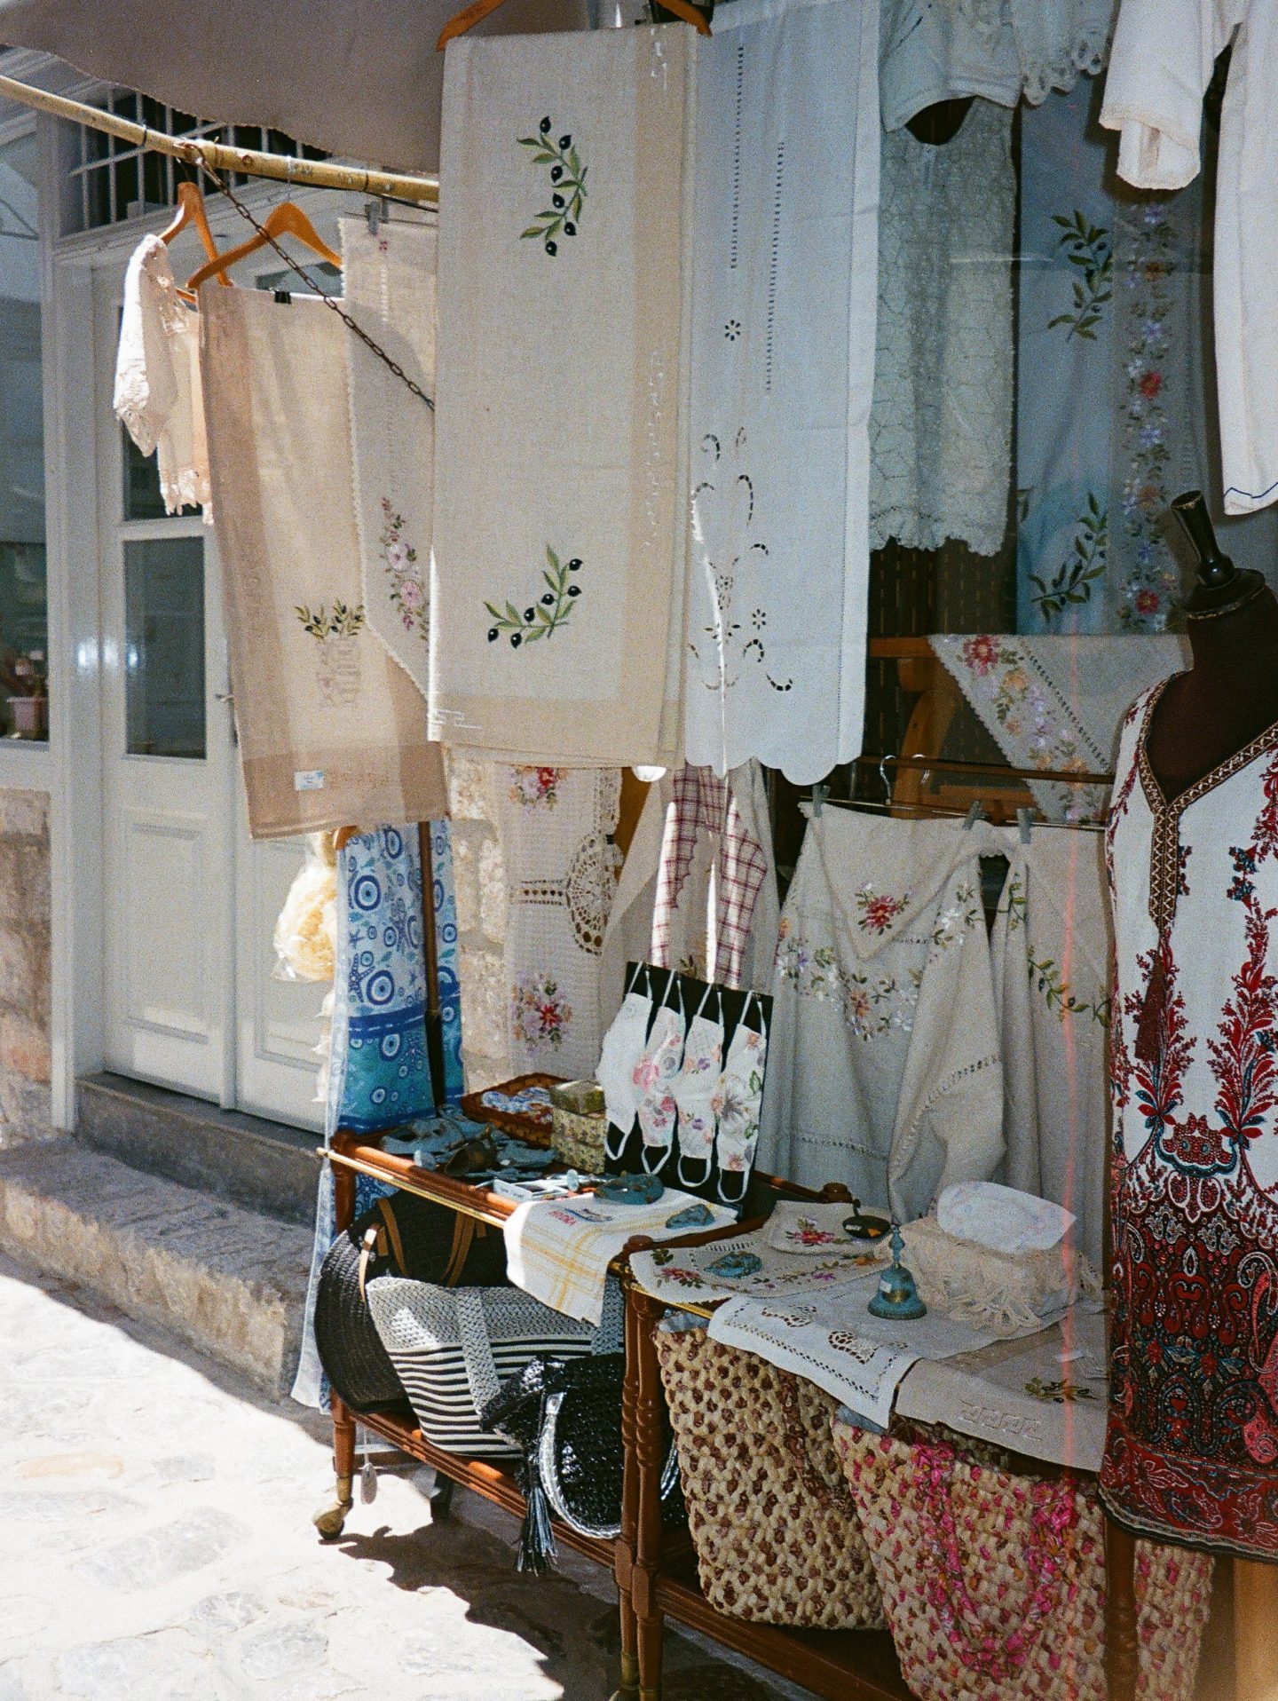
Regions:
<instances>
[{"instance_id":1,"label":"brown and beige woven straw bag without pink beads","mask_svg":"<svg viewBox=\"0 0 1278 1701\"><path fill-rule=\"evenodd\" d=\"M656 1351L710 1606L765 1624L880 1626L829 1434L836 1402L704 1328L658 1328Z\"/></svg>"}]
</instances>

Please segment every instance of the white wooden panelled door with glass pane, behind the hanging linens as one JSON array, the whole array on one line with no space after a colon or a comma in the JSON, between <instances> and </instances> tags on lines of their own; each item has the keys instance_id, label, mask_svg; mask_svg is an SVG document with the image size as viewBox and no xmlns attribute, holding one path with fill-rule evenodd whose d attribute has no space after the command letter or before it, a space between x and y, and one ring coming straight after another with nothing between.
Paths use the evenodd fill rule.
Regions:
<instances>
[{"instance_id":1,"label":"white wooden panelled door with glass pane, behind the hanging linens","mask_svg":"<svg viewBox=\"0 0 1278 1701\"><path fill-rule=\"evenodd\" d=\"M182 260L175 252L175 269ZM274 978L297 840L248 839L216 532L165 515L110 412L122 264L95 281L107 1067L299 1126L326 988Z\"/></svg>"}]
</instances>

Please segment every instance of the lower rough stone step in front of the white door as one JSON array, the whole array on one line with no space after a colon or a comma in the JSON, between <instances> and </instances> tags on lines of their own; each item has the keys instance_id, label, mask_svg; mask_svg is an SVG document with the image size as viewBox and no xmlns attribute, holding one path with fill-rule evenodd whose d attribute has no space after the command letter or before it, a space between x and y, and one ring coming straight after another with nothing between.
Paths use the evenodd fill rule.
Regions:
<instances>
[{"instance_id":1,"label":"lower rough stone step in front of the white door","mask_svg":"<svg viewBox=\"0 0 1278 1701\"><path fill-rule=\"evenodd\" d=\"M73 1141L0 1152L0 1245L173 1330L267 1393L292 1381L311 1230Z\"/></svg>"}]
</instances>

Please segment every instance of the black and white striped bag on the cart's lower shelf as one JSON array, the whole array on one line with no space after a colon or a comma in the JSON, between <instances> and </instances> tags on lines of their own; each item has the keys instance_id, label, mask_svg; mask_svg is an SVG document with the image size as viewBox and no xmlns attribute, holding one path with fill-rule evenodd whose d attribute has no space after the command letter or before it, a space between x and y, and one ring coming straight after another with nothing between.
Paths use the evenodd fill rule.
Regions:
<instances>
[{"instance_id":1,"label":"black and white striped bag on the cart's lower shelf","mask_svg":"<svg viewBox=\"0 0 1278 1701\"><path fill-rule=\"evenodd\" d=\"M469 1458L518 1453L479 1422L479 1412L508 1376L537 1357L598 1351L595 1325L552 1311L518 1288L437 1288L377 1276L367 1294L421 1434Z\"/></svg>"}]
</instances>

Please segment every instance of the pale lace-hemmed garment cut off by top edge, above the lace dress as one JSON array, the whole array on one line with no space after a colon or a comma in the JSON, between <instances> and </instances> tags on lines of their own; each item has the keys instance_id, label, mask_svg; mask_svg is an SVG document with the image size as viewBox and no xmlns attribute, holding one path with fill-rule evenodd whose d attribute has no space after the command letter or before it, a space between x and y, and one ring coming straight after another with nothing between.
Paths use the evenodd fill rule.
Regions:
<instances>
[{"instance_id":1,"label":"pale lace-hemmed garment cut off by top edge, above the lace dress","mask_svg":"<svg viewBox=\"0 0 1278 1701\"><path fill-rule=\"evenodd\" d=\"M1015 107L1105 65L1115 0L884 0L884 129L960 95Z\"/></svg>"}]
</instances>

